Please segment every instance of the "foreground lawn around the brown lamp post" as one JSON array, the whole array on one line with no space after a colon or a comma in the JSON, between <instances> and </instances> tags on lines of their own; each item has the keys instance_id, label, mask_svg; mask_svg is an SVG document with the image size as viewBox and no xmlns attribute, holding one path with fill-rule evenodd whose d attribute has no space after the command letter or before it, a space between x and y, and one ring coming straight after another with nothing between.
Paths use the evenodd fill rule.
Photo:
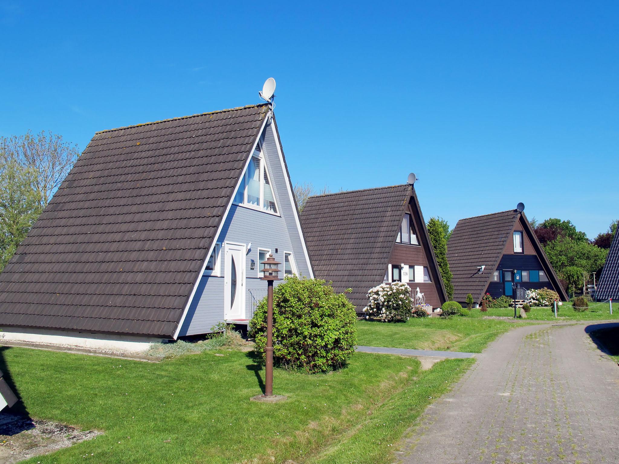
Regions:
<instances>
[{"instance_id":1,"label":"foreground lawn around the brown lamp post","mask_svg":"<svg viewBox=\"0 0 619 464\"><path fill-rule=\"evenodd\" d=\"M355 353L331 374L276 369L275 393L289 400L265 404L249 401L264 379L251 353L144 363L0 351L0 369L31 416L104 432L27 461L41 464L392 462L387 444L473 362L441 361L420 371L413 358Z\"/></svg>"}]
</instances>

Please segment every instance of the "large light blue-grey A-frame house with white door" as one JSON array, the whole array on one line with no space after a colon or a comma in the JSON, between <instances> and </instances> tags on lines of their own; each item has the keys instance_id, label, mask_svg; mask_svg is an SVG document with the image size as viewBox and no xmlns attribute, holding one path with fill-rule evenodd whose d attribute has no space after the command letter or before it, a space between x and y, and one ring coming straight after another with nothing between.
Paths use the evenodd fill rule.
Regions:
<instances>
[{"instance_id":1,"label":"large light blue-grey A-frame house with white door","mask_svg":"<svg viewBox=\"0 0 619 464\"><path fill-rule=\"evenodd\" d=\"M0 274L7 340L139 351L313 277L272 106L97 132Z\"/></svg>"}]
</instances>

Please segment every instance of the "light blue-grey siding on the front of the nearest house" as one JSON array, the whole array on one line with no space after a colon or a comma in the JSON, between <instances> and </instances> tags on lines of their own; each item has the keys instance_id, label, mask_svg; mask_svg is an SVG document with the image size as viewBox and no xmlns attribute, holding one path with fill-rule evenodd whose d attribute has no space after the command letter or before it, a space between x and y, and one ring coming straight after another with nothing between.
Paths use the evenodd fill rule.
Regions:
<instances>
[{"instance_id":1,"label":"light blue-grey siding on the front of the nearest house","mask_svg":"<svg viewBox=\"0 0 619 464\"><path fill-rule=\"evenodd\" d=\"M275 140L269 127L266 127L263 149L280 215L232 205L216 240L217 243L222 244L220 251L220 275L222 277L212 275L202 277L179 332L180 337L209 333L211 327L223 320L223 270L226 241L246 245L251 243L245 262L246 317L251 317L259 299L266 296L267 283L259 280L259 249L271 250L274 258L282 263L281 277L283 277L284 269L284 252L292 252L298 273L309 277L309 263L305 259L301 244L302 238L292 215L292 208L295 206L290 202L285 184L288 182L288 177L281 168ZM254 260L253 270L251 260ZM277 285L277 282L275 284Z\"/></svg>"}]
</instances>

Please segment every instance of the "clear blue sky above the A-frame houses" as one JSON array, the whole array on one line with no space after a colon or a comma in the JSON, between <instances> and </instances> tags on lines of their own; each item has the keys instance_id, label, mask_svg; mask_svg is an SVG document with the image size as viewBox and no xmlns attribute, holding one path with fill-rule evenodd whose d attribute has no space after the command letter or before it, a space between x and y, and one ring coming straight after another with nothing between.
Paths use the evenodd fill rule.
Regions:
<instances>
[{"instance_id":1,"label":"clear blue sky above the A-frame houses","mask_svg":"<svg viewBox=\"0 0 619 464\"><path fill-rule=\"evenodd\" d=\"M0 0L0 135L258 103L293 182L404 183L426 219L619 218L619 3ZM217 6L213 6L216 4ZM372 207L372 205L368 205Z\"/></svg>"}]
</instances>

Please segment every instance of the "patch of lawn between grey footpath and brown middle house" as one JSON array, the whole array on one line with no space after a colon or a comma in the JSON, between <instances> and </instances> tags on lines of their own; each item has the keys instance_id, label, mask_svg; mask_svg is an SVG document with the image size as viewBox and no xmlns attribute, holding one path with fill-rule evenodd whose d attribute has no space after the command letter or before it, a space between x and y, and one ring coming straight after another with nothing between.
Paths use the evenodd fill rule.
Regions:
<instances>
[{"instance_id":1,"label":"patch of lawn between grey footpath and brown middle house","mask_svg":"<svg viewBox=\"0 0 619 464\"><path fill-rule=\"evenodd\" d=\"M359 345L469 353L481 353L488 343L511 327L513 323L504 320L470 316L454 316L449 319L412 317L407 322L398 323L368 320L357 322Z\"/></svg>"}]
</instances>

